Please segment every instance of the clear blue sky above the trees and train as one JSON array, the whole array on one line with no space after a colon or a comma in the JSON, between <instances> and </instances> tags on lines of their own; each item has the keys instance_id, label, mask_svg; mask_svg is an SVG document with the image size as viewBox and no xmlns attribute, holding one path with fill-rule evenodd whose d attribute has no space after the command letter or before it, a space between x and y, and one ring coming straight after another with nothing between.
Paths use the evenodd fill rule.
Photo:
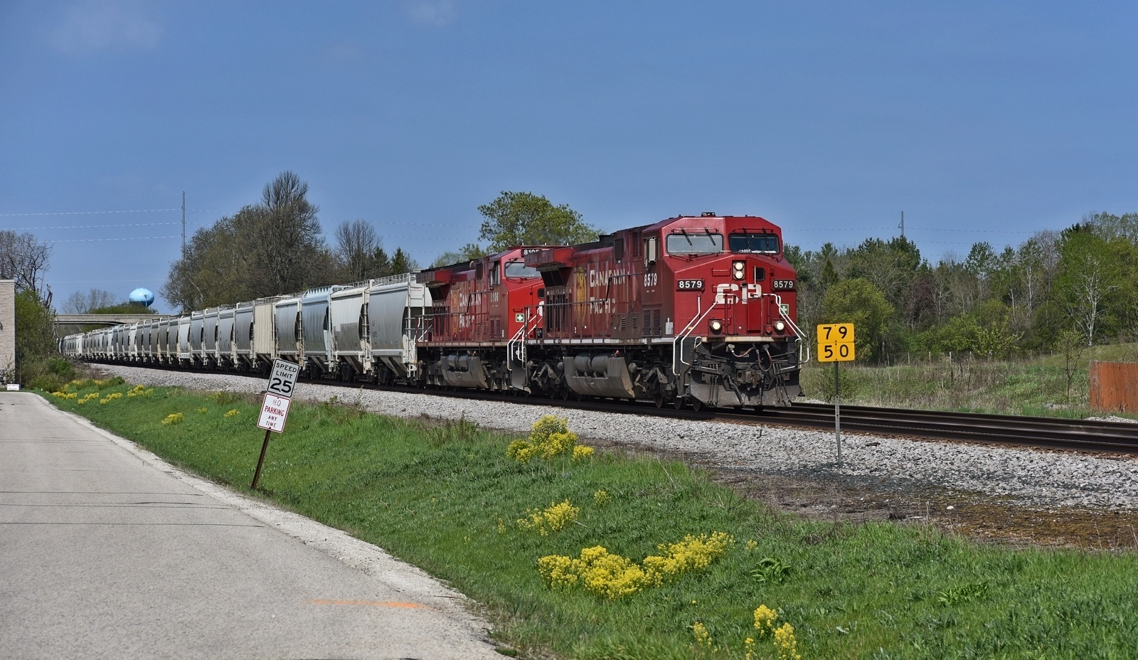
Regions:
<instances>
[{"instance_id":1,"label":"clear blue sky above the trees and train","mask_svg":"<svg viewBox=\"0 0 1138 660\"><path fill-rule=\"evenodd\" d=\"M325 232L364 218L420 263L502 190L805 248L904 211L963 257L1138 211L1136 7L0 0L0 228L55 241L57 303L157 292L181 213L156 209L184 190L192 232L284 170Z\"/></svg>"}]
</instances>

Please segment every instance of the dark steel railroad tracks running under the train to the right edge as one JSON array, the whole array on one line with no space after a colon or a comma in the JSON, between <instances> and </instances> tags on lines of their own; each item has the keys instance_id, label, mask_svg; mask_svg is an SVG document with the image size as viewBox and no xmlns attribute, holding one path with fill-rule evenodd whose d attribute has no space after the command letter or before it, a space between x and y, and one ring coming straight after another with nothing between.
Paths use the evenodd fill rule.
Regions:
<instances>
[{"instance_id":1,"label":"dark steel railroad tracks running under the train to the right edge","mask_svg":"<svg viewBox=\"0 0 1138 660\"><path fill-rule=\"evenodd\" d=\"M131 365L135 366L135 365ZM187 372L178 373L224 373ZM232 373L234 377L263 377ZM361 383L339 383L330 380L302 379L314 385L344 385L361 387ZM364 385L373 388L374 386ZM826 404L795 404L785 409L731 412L657 409L646 402L617 402L611 399L562 401L539 396L502 395L480 390L419 389L412 387L385 387L390 391L427 394L445 398L477 401L500 401L506 403L546 405L570 410L602 411L619 414L651 414L685 420L729 421L737 423L761 423L781 427L833 429L834 407ZM1031 418L987 413L959 413L923 410L901 410L856 405L841 406L842 431L884 436L904 436L938 440L966 442L983 445L1006 445L1041 447L1074 452L1138 455L1138 423L1106 422L1091 420L1067 420L1061 418Z\"/></svg>"}]
</instances>

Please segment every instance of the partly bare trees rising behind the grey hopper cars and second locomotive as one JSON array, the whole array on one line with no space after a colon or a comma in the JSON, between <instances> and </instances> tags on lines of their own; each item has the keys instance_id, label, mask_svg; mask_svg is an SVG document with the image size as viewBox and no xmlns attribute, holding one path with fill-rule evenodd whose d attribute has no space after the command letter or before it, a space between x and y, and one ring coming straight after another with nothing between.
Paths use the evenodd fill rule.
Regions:
<instances>
[{"instance_id":1,"label":"partly bare trees rising behind the grey hopper cars and second locomotive","mask_svg":"<svg viewBox=\"0 0 1138 660\"><path fill-rule=\"evenodd\" d=\"M199 229L171 264L162 296L182 311L231 305L335 283L405 273L418 263L396 248L390 255L368 221L341 222L335 242L323 238L308 184L283 172L266 184L258 203ZM478 207L479 239L432 263L469 261L514 245L564 245L595 240L596 230L567 205L531 192L503 191ZM92 291L86 297L92 298ZM100 298L101 300L101 298Z\"/></svg>"}]
</instances>

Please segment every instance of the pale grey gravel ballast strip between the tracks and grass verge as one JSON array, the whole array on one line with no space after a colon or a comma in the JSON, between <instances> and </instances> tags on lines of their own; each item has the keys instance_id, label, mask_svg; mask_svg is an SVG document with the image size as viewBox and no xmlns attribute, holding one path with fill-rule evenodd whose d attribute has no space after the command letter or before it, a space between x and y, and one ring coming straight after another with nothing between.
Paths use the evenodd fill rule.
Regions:
<instances>
[{"instance_id":1,"label":"pale grey gravel ballast strip between the tracks and grass verge","mask_svg":"<svg viewBox=\"0 0 1138 660\"><path fill-rule=\"evenodd\" d=\"M258 393L264 378L93 365L131 383ZM1031 448L843 434L842 465L833 432L615 414L545 405L483 402L300 382L297 398L356 403L394 416L465 418L487 428L528 434L543 414L569 420L586 443L678 455L712 470L777 475L884 492L935 489L997 502L1055 509L1138 510L1138 459Z\"/></svg>"}]
</instances>

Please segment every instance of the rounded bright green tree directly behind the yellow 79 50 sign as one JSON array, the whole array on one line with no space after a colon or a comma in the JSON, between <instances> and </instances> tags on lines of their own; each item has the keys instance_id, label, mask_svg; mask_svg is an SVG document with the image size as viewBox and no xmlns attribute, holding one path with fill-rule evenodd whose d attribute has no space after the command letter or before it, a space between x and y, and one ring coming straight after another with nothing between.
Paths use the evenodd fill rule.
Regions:
<instances>
[{"instance_id":1,"label":"rounded bright green tree directly behind the yellow 79 50 sign","mask_svg":"<svg viewBox=\"0 0 1138 660\"><path fill-rule=\"evenodd\" d=\"M858 360L882 360L893 313L881 289L857 278L838 282L826 291L819 323L853 323Z\"/></svg>"}]
</instances>

